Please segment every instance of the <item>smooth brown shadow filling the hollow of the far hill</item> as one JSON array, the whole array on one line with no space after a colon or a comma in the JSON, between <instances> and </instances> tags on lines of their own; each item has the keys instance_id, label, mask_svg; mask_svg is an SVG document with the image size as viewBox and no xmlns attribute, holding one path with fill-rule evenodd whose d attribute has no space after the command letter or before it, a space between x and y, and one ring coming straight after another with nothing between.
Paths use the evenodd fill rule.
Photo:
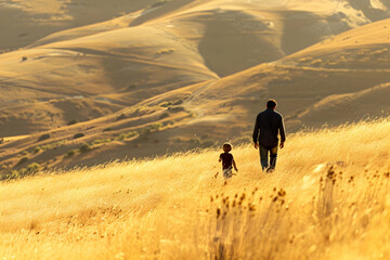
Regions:
<instances>
[{"instance_id":1,"label":"smooth brown shadow filling the hollow of the far hill","mask_svg":"<svg viewBox=\"0 0 390 260\"><path fill-rule=\"evenodd\" d=\"M274 39L271 22L225 10L209 12L197 22L205 25L199 52L207 67L220 77L284 56Z\"/></svg>"}]
</instances>

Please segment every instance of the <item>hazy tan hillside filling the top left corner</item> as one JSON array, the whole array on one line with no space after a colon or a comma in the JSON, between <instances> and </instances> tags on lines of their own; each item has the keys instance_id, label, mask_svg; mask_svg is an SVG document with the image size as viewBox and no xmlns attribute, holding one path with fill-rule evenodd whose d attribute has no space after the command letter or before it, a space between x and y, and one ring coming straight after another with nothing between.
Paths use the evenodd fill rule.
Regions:
<instances>
[{"instance_id":1,"label":"hazy tan hillside filling the top left corner","mask_svg":"<svg viewBox=\"0 0 390 260\"><path fill-rule=\"evenodd\" d=\"M155 0L3 0L0 51L26 47L53 32L94 24L153 4Z\"/></svg>"}]
</instances>

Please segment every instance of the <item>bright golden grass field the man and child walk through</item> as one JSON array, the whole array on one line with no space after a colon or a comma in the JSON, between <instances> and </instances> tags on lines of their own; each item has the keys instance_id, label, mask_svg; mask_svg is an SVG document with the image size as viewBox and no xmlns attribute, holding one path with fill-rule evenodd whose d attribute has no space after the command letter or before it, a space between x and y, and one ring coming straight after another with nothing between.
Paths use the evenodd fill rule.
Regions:
<instances>
[{"instance_id":1,"label":"bright golden grass field the man and child walk through","mask_svg":"<svg viewBox=\"0 0 390 260\"><path fill-rule=\"evenodd\" d=\"M390 118L0 184L1 259L389 259ZM219 174L216 177L216 173Z\"/></svg>"}]
</instances>

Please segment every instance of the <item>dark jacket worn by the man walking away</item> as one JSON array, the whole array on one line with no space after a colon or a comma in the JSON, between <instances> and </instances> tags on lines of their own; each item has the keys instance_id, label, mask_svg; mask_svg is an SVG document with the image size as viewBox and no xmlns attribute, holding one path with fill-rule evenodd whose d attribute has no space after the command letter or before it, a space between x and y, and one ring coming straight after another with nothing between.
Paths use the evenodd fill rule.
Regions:
<instances>
[{"instance_id":1,"label":"dark jacket worn by the man walking away","mask_svg":"<svg viewBox=\"0 0 390 260\"><path fill-rule=\"evenodd\" d=\"M283 117L272 108L261 112L256 118L253 130L253 143L259 142L260 145L272 148L277 146L277 132L281 133L281 141L286 140Z\"/></svg>"}]
</instances>

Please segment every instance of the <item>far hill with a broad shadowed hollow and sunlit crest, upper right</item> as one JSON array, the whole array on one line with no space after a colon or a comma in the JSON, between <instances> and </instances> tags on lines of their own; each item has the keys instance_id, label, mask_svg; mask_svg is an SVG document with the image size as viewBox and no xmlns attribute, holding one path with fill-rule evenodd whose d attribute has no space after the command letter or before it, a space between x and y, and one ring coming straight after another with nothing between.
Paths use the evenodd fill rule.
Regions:
<instances>
[{"instance_id":1,"label":"far hill with a broad shadowed hollow and sunlit crest, upper right","mask_svg":"<svg viewBox=\"0 0 390 260\"><path fill-rule=\"evenodd\" d=\"M194 42L208 67L219 76L227 76L389 17L384 5L376 9L377 18L362 15L362 8L333 0L195 1L166 15L144 18L143 23L165 25Z\"/></svg>"}]
</instances>

